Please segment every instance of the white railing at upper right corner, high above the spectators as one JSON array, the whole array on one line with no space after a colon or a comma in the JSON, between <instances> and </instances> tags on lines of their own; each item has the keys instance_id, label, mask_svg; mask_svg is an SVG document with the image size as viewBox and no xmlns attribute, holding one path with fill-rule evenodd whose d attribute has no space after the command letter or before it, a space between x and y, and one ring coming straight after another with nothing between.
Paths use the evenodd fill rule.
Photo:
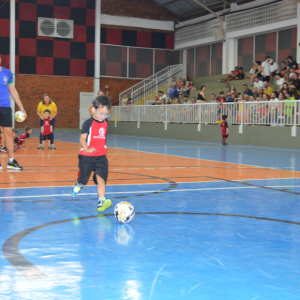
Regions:
<instances>
[{"instance_id":1,"label":"white railing at upper right corner, high above the spectators","mask_svg":"<svg viewBox=\"0 0 300 300\"><path fill-rule=\"evenodd\" d=\"M292 18L297 18L297 0L284 0L230 14L226 17L226 29L230 32Z\"/></svg>"}]
</instances>

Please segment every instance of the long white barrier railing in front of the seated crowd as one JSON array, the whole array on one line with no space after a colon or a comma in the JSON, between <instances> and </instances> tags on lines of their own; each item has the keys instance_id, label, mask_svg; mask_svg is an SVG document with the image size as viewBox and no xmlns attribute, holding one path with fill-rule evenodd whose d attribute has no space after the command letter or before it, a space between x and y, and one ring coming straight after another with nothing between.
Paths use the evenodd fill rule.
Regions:
<instances>
[{"instance_id":1,"label":"long white barrier railing in front of the seated crowd","mask_svg":"<svg viewBox=\"0 0 300 300\"><path fill-rule=\"evenodd\" d=\"M168 123L216 124L222 115L228 116L228 123L240 125L292 126L292 136L296 136L296 126L300 125L300 100L253 101L229 103L196 103L172 105L118 106L113 109L110 121L115 122L162 122Z\"/></svg>"}]
</instances>

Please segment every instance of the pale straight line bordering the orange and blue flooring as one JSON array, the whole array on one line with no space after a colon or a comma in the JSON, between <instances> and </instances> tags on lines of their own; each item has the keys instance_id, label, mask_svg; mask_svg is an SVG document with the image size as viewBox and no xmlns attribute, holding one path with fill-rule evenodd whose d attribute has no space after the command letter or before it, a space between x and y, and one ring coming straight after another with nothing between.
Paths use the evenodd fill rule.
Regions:
<instances>
[{"instance_id":1,"label":"pale straight line bordering the orange and blue flooring","mask_svg":"<svg viewBox=\"0 0 300 300\"><path fill-rule=\"evenodd\" d=\"M131 174L129 174L131 175ZM257 180L287 180L287 179L299 179L300 177L289 177L289 178L267 178L267 179L239 179L239 180L231 180L231 182L239 182L239 181L257 181ZM226 182L225 180L207 180L207 181L176 181L175 183L211 183L211 182ZM22 182L26 183L26 182ZM8 183L9 184L9 183ZM160 182L160 183L133 183L133 184L107 184L106 186L122 186L122 185L151 185L151 184L170 184L169 182ZM40 189L40 188L62 188L62 187L71 187L72 185L41 185L41 186L29 186L29 187L13 187L13 188L0 188L0 190L16 190L16 189ZM85 188L95 187L95 185L86 185Z\"/></svg>"}]
</instances>

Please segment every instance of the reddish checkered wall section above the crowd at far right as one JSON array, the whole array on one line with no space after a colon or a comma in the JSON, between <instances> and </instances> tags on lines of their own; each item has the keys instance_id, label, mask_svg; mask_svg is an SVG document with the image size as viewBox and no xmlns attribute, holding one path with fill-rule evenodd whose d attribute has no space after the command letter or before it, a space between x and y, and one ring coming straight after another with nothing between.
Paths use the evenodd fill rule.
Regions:
<instances>
[{"instance_id":1,"label":"reddish checkered wall section above the crowd at far right","mask_svg":"<svg viewBox=\"0 0 300 300\"><path fill-rule=\"evenodd\" d=\"M296 59L296 48L297 28L242 38L238 40L238 66L249 71L254 61L263 62L266 56L279 63L289 55Z\"/></svg>"}]
</instances>

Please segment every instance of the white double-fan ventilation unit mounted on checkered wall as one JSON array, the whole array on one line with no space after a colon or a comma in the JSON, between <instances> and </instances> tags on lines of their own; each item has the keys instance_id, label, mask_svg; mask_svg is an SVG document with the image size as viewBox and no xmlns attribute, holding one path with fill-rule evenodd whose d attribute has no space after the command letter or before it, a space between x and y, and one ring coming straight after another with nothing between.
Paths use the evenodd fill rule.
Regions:
<instances>
[{"instance_id":1,"label":"white double-fan ventilation unit mounted on checkered wall","mask_svg":"<svg viewBox=\"0 0 300 300\"><path fill-rule=\"evenodd\" d=\"M72 39L74 37L74 21L38 18L38 35Z\"/></svg>"}]
</instances>

